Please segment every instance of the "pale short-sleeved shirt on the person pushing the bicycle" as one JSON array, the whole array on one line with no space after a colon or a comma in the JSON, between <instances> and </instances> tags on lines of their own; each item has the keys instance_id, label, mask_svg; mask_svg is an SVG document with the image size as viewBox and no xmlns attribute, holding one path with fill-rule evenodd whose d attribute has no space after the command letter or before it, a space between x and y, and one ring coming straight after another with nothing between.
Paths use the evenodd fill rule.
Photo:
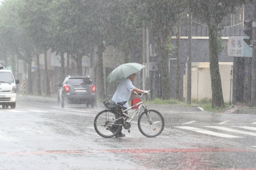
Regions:
<instances>
[{"instance_id":1,"label":"pale short-sleeved shirt on the person pushing the bicycle","mask_svg":"<svg viewBox=\"0 0 256 170\"><path fill-rule=\"evenodd\" d=\"M116 92L112 97L112 100L117 102L127 101L123 106L129 107L128 101L131 97L131 92L135 87L132 85L132 81L130 78L123 79L120 84L117 86Z\"/></svg>"}]
</instances>

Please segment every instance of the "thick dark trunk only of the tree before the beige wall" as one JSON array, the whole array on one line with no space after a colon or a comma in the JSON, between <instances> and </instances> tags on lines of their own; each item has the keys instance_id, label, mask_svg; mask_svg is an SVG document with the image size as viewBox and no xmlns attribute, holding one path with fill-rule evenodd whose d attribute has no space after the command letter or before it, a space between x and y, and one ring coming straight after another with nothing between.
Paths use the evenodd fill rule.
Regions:
<instances>
[{"instance_id":1,"label":"thick dark trunk only of the tree before the beige wall","mask_svg":"<svg viewBox=\"0 0 256 170\"><path fill-rule=\"evenodd\" d=\"M219 56L218 56L218 31L217 27L208 27L209 29L209 52L210 52L210 74L212 83L212 109L215 107L225 107L220 70L219 70Z\"/></svg>"}]
</instances>

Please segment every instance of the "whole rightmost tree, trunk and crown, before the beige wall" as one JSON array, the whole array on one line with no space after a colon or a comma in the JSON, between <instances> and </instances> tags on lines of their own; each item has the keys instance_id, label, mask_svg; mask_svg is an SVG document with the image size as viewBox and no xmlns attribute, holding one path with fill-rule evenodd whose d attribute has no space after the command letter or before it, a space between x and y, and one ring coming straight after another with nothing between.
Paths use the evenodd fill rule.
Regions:
<instances>
[{"instance_id":1,"label":"whole rightmost tree, trunk and crown, before the beige wall","mask_svg":"<svg viewBox=\"0 0 256 170\"><path fill-rule=\"evenodd\" d=\"M244 0L192 0L189 9L193 18L207 23L209 31L209 52L210 52L210 75L212 83L212 108L225 107L220 70L219 70L219 49L218 38L220 24L224 17L234 11L235 7L246 3Z\"/></svg>"}]
</instances>

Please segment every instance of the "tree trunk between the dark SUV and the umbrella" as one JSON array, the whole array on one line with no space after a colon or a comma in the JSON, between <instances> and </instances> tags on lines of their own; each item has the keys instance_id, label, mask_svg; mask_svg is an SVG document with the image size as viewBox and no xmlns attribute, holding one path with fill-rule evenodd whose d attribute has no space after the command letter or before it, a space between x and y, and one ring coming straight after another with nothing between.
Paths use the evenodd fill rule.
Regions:
<instances>
[{"instance_id":1,"label":"tree trunk between the dark SUV and the umbrella","mask_svg":"<svg viewBox=\"0 0 256 170\"><path fill-rule=\"evenodd\" d=\"M103 42L101 42L98 46L98 62L96 63L97 69L97 94L101 98L105 97L105 90L104 90L104 78L103 78L103 58L102 53L105 50Z\"/></svg>"}]
</instances>

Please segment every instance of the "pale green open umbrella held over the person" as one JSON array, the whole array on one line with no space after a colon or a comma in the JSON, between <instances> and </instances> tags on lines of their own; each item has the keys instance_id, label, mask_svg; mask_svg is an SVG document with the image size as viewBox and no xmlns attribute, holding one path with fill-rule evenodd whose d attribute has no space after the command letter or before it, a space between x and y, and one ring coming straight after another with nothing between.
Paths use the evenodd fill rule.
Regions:
<instances>
[{"instance_id":1,"label":"pale green open umbrella held over the person","mask_svg":"<svg viewBox=\"0 0 256 170\"><path fill-rule=\"evenodd\" d=\"M121 64L108 75L107 81L111 83L119 79L127 78L131 74L140 71L144 67L146 66L139 63Z\"/></svg>"}]
</instances>

